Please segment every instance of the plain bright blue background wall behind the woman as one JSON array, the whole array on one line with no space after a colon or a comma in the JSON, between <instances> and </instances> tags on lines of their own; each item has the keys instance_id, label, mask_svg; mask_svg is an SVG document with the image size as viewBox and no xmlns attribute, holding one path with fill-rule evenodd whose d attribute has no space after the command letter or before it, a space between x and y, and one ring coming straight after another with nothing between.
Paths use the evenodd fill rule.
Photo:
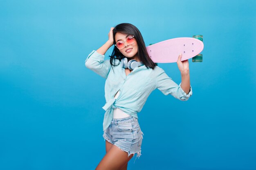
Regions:
<instances>
[{"instance_id":1,"label":"plain bright blue background wall behind the woman","mask_svg":"<svg viewBox=\"0 0 256 170\"><path fill-rule=\"evenodd\" d=\"M138 113L142 155L128 170L256 170L255 1L0 3L0 169L96 168L105 79L84 61L128 22L146 46L204 36L203 62L189 59L192 97L151 93ZM176 63L159 66L181 82Z\"/></svg>"}]
</instances>

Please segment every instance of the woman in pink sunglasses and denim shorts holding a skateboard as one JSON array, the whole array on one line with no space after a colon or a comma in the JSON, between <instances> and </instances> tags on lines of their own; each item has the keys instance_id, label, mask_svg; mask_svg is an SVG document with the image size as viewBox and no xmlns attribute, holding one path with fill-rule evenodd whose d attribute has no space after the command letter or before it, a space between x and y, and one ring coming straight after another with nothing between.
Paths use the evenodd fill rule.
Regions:
<instances>
[{"instance_id":1,"label":"woman in pink sunglasses and denim shorts holding a skateboard","mask_svg":"<svg viewBox=\"0 0 256 170\"><path fill-rule=\"evenodd\" d=\"M104 60L104 54L113 44L110 59ZM150 59L140 31L129 23L112 27L108 41L88 55L85 66L106 78L103 106L106 155L96 170L126 170L134 154L141 155L144 134L137 113L153 90L157 88L164 95L171 94L182 101L191 97L189 62L181 62L181 57L177 60L182 77L178 85Z\"/></svg>"}]
</instances>

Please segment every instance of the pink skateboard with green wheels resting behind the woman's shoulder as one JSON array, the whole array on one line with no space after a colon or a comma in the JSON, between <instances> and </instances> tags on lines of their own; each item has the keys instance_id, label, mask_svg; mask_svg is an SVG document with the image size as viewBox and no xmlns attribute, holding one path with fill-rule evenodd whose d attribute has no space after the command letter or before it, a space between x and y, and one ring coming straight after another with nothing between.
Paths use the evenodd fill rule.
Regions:
<instances>
[{"instance_id":1,"label":"pink skateboard with green wheels resting behind the woman's shoulder","mask_svg":"<svg viewBox=\"0 0 256 170\"><path fill-rule=\"evenodd\" d=\"M182 53L181 61L193 57L193 62L202 62L202 54L199 53L204 49L204 44L202 35L194 35L193 38L173 38L161 41L147 46L146 49L155 63L177 62L180 53Z\"/></svg>"}]
</instances>

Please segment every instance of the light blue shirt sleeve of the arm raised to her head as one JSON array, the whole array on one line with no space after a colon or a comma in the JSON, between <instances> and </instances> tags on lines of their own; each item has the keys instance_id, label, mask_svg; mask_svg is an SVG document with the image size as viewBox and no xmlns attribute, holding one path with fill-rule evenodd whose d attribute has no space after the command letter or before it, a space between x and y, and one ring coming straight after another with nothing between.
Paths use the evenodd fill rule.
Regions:
<instances>
[{"instance_id":1,"label":"light blue shirt sleeve of the arm raised to her head","mask_svg":"<svg viewBox=\"0 0 256 170\"><path fill-rule=\"evenodd\" d=\"M104 55L93 50L85 59L85 66L103 78L108 77L111 68L110 59L104 60Z\"/></svg>"}]
</instances>

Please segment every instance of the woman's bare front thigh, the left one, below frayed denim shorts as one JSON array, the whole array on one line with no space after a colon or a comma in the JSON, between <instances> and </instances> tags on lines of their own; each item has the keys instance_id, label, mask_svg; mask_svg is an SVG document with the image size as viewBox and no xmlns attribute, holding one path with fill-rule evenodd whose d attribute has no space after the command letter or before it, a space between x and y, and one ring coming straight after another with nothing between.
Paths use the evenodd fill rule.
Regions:
<instances>
[{"instance_id":1,"label":"woman's bare front thigh, the left one, below frayed denim shorts","mask_svg":"<svg viewBox=\"0 0 256 170\"><path fill-rule=\"evenodd\" d=\"M101 159L95 170L118 170L121 169L134 154L128 157L128 153L113 145Z\"/></svg>"}]
</instances>

